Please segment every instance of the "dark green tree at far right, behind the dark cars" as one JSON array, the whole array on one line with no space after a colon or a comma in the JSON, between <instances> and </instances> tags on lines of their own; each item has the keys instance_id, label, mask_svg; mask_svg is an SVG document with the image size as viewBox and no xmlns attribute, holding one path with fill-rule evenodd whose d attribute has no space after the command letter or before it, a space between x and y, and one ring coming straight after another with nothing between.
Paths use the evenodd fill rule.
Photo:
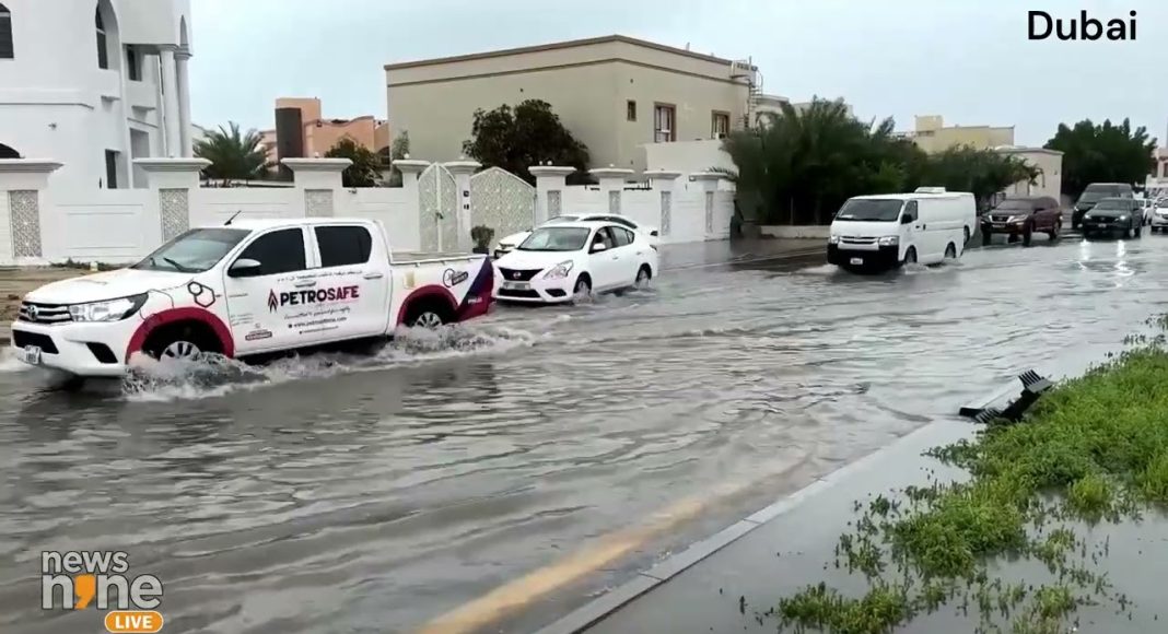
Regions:
<instances>
[{"instance_id":1,"label":"dark green tree at far right, behind the dark cars","mask_svg":"<svg viewBox=\"0 0 1168 634\"><path fill-rule=\"evenodd\" d=\"M1084 119L1073 127L1059 124L1047 149L1063 153L1063 193L1072 196L1092 182L1143 183L1155 167L1152 153L1156 139L1146 127L1132 130L1131 121L1103 125Z\"/></svg>"}]
</instances>

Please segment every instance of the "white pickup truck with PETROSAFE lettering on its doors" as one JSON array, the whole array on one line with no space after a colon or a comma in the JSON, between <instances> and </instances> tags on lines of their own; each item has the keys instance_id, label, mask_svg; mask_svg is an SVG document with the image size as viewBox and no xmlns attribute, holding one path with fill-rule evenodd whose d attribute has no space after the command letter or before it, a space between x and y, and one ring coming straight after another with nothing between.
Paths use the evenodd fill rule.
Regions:
<instances>
[{"instance_id":1,"label":"white pickup truck with PETROSAFE lettering on its doors","mask_svg":"<svg viewBox=\"0 0 1168 634\"><path fill-rule=\"evenodd\" d=\"M373 221L229 221L28 293L12 346L34 365L119 376L135 353L248 357L464 321L493 290L486 256L394 257Z\"/></svg>"}]
</instances>

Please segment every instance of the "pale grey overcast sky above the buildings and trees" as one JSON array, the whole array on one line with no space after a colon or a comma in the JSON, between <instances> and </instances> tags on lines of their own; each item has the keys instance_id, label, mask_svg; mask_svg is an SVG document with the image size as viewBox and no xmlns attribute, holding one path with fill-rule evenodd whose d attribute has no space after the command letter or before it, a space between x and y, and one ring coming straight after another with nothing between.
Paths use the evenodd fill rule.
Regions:
<instances>
[{"instance_id":1,"label":"pale grey overcast sky above the buildings and trees","mask_svg":"<svg viewBox=\"0 0 1168 634\"><path fill-rule=\"evenodd\" d=\"M1163 0L194 0L195 123L272 127L277 97L385 118L391 62L621 34L753 57L764 90L843 97L862 118L1014 125L1041 145L1084 118L1168 135ZM1029 41L1028 11L1135 9L1134 42Z\"/></svg>"}]
</instances>

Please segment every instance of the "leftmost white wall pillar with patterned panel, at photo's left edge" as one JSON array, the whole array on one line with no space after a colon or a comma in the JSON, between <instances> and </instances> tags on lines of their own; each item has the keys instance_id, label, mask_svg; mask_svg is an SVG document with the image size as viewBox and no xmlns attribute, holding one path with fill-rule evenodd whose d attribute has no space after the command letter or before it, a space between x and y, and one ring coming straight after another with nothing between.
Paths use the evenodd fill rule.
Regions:
<instances>
[{"instance_id":1,"label":"leftmost white wall pillar with patterned panel, at photo's left edge","mask_svg":"<svg viewBox=\"0 0 1168 634\"><path fill-rule=\"evenodd\" d=\"M61 163L0 159L0 264L44 264L41 217L49 175Z\"/></svg>"}]
</instances>

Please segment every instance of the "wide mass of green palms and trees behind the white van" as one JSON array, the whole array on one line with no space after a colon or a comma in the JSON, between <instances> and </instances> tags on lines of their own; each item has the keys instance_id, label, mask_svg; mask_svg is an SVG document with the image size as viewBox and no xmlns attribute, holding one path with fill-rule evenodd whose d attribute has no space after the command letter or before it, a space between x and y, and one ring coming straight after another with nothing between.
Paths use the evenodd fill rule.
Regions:
<instances>
[{"instance_id":1,"label":"wide mass of green palms and trees behind the white van","mask_svg":"<svg viewBox=\"0 0 1168 634\"><path fill-rule=\"evenodd\" d=\"M992 151L960 148L934 156L898 138L892 119L864 123L840 100L784 104L762 125L732 132L723 148L734 160L745 220L825 224L843 201L862 194L938 186L979 201L1037 173Z\"/></svg>"}]
</instances>

